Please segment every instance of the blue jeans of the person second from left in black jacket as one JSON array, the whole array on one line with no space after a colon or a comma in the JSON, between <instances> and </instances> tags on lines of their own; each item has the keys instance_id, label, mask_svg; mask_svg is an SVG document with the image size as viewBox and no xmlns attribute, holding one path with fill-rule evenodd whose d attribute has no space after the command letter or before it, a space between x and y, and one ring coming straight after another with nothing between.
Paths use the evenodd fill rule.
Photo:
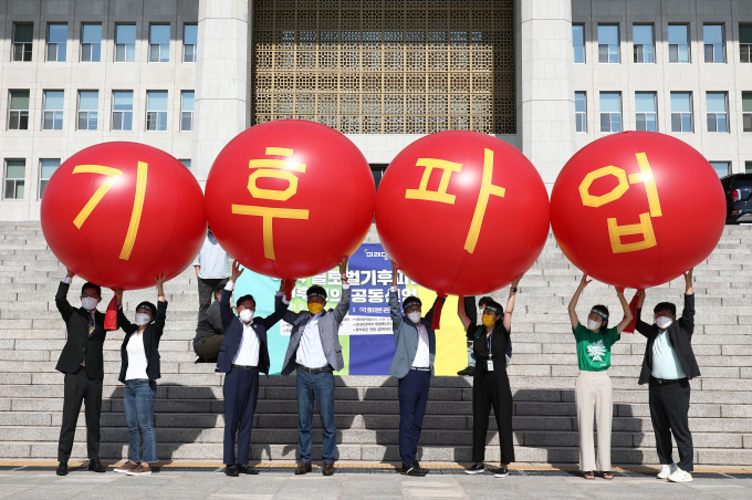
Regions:
<instances>
[{"instance_id":1,"label":"blue jeans of the person second from left in black jacket","mask_svg":"<svg viewBox=\"0 0 752 500\"><path fill-rule=\"evenodd\" d=\"M130 461L157 461L157 436L154 433L156 381L125 381L125 419L130 437Z\"/></svg>"}]
</instances>

